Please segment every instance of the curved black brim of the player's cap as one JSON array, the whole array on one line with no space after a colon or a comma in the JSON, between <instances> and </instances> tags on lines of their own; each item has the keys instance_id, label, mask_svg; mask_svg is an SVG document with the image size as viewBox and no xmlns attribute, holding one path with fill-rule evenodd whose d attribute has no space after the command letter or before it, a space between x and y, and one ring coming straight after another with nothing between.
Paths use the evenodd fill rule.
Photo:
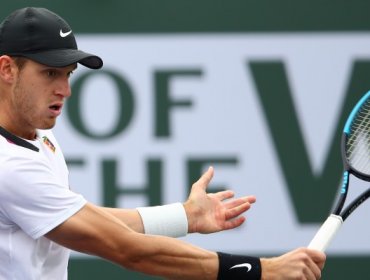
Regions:
<instances>
[{"instance_id":1,"label":"curved black brim of the player's cap","mask_svg":"<svg viewBox=\"0 0 370 280\"><path fill-rule=\"evenodd\" d=\"M99 56L73 49L27 53L22 56L52 67L65 67L74 63L80 63L91 69L99 69L103 66L103 60Z\"/></svg>"}]
</instances>

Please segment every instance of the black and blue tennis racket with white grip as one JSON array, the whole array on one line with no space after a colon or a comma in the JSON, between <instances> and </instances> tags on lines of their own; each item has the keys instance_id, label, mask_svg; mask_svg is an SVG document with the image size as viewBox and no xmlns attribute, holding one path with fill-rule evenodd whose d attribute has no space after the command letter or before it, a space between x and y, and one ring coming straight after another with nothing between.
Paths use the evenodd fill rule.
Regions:
<instances>
[{"instance_id":1,"label":"black and blue tennis racket with white grip","mask_svg":"<svg viewBox=\"0 0 370 280\"><path fill-rule=\"evenodd\" d=\"M334 211L322 224L308 248L324 252L343 222L370 196L370 188L362 192L343 210L350 174L370 182L370 91L352 109L342 134L341 153L343 180Z\"/></svg>"}]
</instances>

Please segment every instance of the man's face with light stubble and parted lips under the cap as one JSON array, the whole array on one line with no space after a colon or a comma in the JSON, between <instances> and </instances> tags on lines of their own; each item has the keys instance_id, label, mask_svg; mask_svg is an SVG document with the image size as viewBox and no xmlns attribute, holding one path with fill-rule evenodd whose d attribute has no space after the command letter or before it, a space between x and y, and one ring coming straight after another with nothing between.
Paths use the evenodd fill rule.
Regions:
<instances>
[{"instance_id":1,"label":"man's face with light stubble and parted lips under the cap","mask_svg":"<svg viewBox=\"0 0 370 280\"><path fill-rule=\"evenodd\" d=\"M16 125L29 131L52 128L71 95L69 77L75 68L49 67L27 60L18 71L11 95L10 112Z\"/></svg>"}]
</instances>

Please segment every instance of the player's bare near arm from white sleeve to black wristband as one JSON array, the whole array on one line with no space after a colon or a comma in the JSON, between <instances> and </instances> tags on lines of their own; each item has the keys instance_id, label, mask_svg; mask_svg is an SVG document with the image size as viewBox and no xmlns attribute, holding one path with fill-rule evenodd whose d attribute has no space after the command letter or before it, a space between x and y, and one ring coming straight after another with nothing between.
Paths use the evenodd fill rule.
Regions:
<instances>
[{"instance_id":1,"label":"player's bare near arm from white sleeve to black wristband","mask_svg":"<svg viewBox=\"0 0 370 280\"><path fill-rule=\"evenodd\" d=\"M67 248L150 275L168 279L217 277L216 253L177 239L137 233L92 204L87 204L46 237Z\"/></svg>"}]
</instances>

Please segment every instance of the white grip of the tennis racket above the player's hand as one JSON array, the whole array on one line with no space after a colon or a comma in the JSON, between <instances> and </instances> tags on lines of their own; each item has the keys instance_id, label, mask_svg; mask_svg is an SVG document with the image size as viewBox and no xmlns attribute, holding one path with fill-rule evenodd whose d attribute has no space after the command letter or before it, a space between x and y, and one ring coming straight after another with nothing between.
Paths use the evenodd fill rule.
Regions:
<instances>
[{"instance_id":1,"label":"white grip of the tennis racket above the player's hand","mask_svg":"<svg viewBox=\"0 0 370 280\"><path fill-rule=\"evenodd\" d=\"M342 224L341 216L331 214L311 240L308 248L324 252Z\"/></svg>"}]
</instances>

